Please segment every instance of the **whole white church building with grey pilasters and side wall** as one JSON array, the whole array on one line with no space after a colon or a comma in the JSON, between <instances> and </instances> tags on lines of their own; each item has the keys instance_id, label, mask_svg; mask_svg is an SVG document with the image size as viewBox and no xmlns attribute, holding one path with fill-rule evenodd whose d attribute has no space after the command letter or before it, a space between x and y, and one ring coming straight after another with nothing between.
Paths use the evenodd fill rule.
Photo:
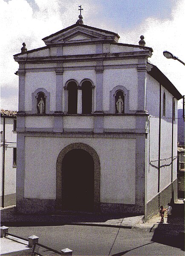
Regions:
<instances>
[{"instance_id":1,"label":"whole white church building with grey pilasters and side wall","mask_svg":"<svg viewBox=\"0 0 185 256\"><path fill-rule=\"evenodd\" d=\"M76 24L19 63L18 212L132 212L176 199L179 91L152 49Z\"/></svg>"}]
</instances>

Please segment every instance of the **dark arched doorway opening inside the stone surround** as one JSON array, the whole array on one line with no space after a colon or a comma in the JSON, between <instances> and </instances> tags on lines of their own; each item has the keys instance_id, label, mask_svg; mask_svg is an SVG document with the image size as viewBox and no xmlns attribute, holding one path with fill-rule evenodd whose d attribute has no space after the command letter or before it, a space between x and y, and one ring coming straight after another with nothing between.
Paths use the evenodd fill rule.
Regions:
<instances>
[{"instance_id":1,"label":"dark arched doorway opening inside the stone surround","mask_svg":"<svg viewBox=\"0 0 185 256\"><path fill-rule=\"evenodd\" d=\"M64 210L93 211L94 161L83 149L70 150L62 161L62 206Z\"/></svg>"}]
</instances>

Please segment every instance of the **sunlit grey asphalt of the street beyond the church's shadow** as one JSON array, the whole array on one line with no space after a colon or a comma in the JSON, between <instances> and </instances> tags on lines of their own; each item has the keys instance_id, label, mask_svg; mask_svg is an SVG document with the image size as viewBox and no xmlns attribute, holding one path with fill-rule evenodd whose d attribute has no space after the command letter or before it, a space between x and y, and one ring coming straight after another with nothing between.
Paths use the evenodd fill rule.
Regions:
<instances>
[{"instance_id":1,"label":"sunlit grey asphalt of the street beyond the church's shadow","mask_svg":"<svg viewBox=\"0 0 185 256\"><path fill-rule=\"evenodd\" d=\"M155 241L156 230L64 225L10 227L9 232L23 238L37 235L39 243L59 251L68 247L73 255L184 255L174 236L168 236L168 245Z\"/></svg>"}]
</instances>

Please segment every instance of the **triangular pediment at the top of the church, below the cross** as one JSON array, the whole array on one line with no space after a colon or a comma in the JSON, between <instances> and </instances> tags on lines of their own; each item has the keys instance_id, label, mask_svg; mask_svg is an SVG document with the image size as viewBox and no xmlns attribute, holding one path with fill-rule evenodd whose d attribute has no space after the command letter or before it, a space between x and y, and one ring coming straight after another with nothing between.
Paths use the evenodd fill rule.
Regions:
<instances>
[{"instance_id":1,"label":"triangular pediment at the top of the church, below the cross","mask_svg":"<svg viewBox=\"0 0 185 256\"><path fill-rule=\"evenodd\" d=\"M46 45L51 44L79 44L93 41L117 42L119 35L103 29L97 29L86 25L74 24L55 34L43 38Z\"/></svg>"}]
</instances>

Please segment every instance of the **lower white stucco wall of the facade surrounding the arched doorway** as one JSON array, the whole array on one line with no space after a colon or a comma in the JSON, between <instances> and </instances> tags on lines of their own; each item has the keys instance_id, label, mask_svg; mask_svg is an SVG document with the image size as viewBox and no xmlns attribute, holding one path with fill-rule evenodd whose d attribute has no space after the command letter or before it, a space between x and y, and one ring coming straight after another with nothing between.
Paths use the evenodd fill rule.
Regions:
<instances>
[{"instance_id":1,"label":"lower white stucco wall of the facade surrounding the arched doorway","mask_svg":"<svg viewBox=\"0 0 185 256\"><path fill-rule=\"evenodd\" d=\"M24 197L56 198L56 161L67 145L93 147L101 163L101 202L135 203L135 139L25 138ZM131 161L130 161L131 159Z\"/></svg>"}]
</instances>

